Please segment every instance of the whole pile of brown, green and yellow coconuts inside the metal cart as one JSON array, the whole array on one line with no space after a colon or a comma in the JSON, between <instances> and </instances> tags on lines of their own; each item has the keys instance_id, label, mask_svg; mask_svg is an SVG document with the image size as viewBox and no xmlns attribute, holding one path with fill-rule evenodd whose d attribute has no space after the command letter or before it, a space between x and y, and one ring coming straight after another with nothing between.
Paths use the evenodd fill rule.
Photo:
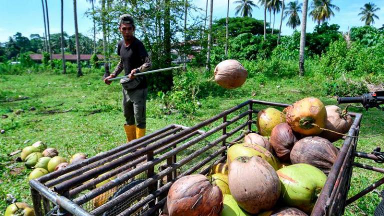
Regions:
<instances>
[{"instance_id":1,"label":"whole pile of brown, green and yellow coconuts inside the metal cart","mask_svg":"<svg viewBox=\"0 0 384 216\"><path fill-rule=\"evenodd\" d=\"M332 142L351 123L345 110L313 97L260 110L258 133L232 144L226 163L172 184L164 215L308 215L337 157Z\"/></svg>"}]
</instances>

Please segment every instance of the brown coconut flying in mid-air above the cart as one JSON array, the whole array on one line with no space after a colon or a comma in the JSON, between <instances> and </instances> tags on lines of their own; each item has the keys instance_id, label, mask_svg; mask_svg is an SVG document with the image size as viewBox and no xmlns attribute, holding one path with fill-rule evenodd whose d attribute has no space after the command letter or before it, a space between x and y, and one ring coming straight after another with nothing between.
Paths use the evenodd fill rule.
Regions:
<instances>
[{"instance_id":1,"label":"brown coconut flying in mid-air above the cart","mask_svg":"<svg viewBox=\"0 0 384 216\"><path fill-rule=\"evenodd\" d=\"M248 72L237 60L223 60L214 68L214 80L221 87L236 88L241 86L246 79Z\"/></svg>"}]
</instances>

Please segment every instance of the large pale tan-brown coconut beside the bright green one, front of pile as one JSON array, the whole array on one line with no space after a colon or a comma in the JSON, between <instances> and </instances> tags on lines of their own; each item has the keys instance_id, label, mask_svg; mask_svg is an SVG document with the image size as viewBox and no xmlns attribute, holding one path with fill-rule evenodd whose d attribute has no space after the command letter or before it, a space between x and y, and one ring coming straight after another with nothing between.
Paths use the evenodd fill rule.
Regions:
<instances>
[{"instance_id":1,"label":"large pale tan-brown coconut beside the bright green one, front of pile","mask_svg":"<svg viewBox=\"0 0 384 216\"><path fill-rule=\"evenodd\" d=\"M273 167L258 156L240 156L229 166L229 189L237 204L256 214L272 208L280 196L280 180Z\"/></svg>"}]
</instances>

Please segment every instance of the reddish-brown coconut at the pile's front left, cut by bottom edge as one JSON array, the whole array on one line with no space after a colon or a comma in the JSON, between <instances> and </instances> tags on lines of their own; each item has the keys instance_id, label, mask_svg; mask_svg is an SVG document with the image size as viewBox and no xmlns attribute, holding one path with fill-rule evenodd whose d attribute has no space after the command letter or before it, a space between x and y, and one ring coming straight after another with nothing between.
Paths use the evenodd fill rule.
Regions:
<instances>
[{"instance_id":1,"label":"reddish-brown coconut at the pile's front left, cut by bottom edge","mask_svg":"<svg viewBox=\"0 0 384 216\"><path fill-rule=\"evenodd\" d=\"M223 197L218 186L212 186L201 174L183 176L169 188L166 205L169 216L219 216Z\"/></svg>"}]
</instances>

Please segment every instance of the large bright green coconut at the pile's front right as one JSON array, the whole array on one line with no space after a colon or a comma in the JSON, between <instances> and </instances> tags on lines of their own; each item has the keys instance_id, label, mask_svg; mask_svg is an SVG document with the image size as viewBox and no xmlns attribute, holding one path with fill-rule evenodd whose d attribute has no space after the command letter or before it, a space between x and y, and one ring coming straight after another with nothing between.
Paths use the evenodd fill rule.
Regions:
<instances>
[{"instance_id":1,"label":"large bright green coconut at the pile's front right","mask_svg":"<svg viewBox=\"0 0 384 216\"><path fill-rule=\"evenodd\" d=\"M326 175L318 168L297 163L277 170L281 182L281 199L292 207L310 213L324 186Z\"/></svg>"}]
</instances>

